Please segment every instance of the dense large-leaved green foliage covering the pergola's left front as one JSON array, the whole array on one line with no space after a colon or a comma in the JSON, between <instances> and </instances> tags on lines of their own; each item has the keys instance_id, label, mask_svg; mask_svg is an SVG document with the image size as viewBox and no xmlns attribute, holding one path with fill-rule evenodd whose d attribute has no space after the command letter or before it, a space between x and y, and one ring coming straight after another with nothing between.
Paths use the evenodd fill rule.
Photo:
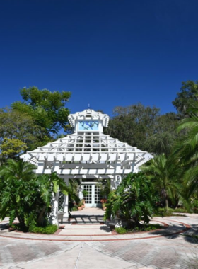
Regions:
<instances>
[{"instance_id":1,"label":"dense large-leaved green foliage covering the pergola's left front","mask_svg":"<svg viewBox=\"0 0 198 269\"><path fill-rule=\"evenodd\" d=\"M0 171L0 218L8 214L12 224L17 217L24 231L45 227L54 193L61 190L68 195L71 191L57 173L36 176L34 170L32 164L9 159Z\"/></svg>"}]
</instances>

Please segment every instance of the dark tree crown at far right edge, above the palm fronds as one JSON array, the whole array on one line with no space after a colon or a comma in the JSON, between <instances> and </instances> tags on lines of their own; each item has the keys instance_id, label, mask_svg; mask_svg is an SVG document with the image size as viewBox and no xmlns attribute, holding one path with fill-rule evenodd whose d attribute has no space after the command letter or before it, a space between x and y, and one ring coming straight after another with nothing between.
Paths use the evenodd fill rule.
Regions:
<instances>
[{"instance_id":1,"label":"dark tree crown at far right edge, above the palm fronds","mask_svg":"<svg viewBox=\"0 0 198 269\"><path fill-rule=\"evenodd\" d=\"M177 112L183 118L188 115L188 108L190 107L190 101L198 101L198 81L186 81L182 82L180 93L177 93L177 97L172 102Z\"/></svg>"}]
</instances>

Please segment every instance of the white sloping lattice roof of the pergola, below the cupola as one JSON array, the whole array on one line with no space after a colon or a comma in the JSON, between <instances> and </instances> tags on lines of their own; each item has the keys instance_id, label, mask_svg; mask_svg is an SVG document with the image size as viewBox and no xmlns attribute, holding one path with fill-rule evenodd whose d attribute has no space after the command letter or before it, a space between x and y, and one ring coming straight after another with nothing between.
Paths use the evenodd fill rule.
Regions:
<instances>
[{"instance_id":1,"label":"white sloping lattice roof of the pergola, below the cupola","mask_svg":"<svg viewBox=\"0 0 198 269\"><path fill-rule=\"evenodd\" d=\"M135 161L143 164L152 158L151 154L141 151L109 135L84 132L73 134L28 151L21 156L24 160L37 163L44 161Z\"/></svg>"}]
</instances>

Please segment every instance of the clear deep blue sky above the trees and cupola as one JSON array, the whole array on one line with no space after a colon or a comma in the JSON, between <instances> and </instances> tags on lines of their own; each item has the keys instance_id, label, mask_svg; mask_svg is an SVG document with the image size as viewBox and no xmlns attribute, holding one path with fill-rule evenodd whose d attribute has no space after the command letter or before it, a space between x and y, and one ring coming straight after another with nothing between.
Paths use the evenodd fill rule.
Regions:
<instances>
[{"instance_id":1,"label":"clear deep blue sky above the trees and cupola","mask_svg":"<svg viewBox=\"0 0 198 269\"><path fill-rule=\"evenodd\" d=\"M19 89L71 91L71 113L117 105L174 111L198 80L196 0L1 0L0 107Z\"/></svg>"}]
</instances>

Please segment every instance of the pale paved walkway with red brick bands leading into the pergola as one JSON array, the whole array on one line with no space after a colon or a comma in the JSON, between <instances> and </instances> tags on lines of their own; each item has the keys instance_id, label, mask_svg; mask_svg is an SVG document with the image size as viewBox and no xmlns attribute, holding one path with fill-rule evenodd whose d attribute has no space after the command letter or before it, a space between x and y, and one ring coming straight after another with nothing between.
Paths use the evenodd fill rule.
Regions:
<instances>
[{"instance_id":1,"label":"pale paved walkway with red brick bands leading into the pergola","mask_svg":"<svg viewBox=\"0 0 198 269\"><path fill-rule=\"evenodd\" d=\"M197 241L182 235L197 233L198 215L155 221L169 227L116 235L103 223L102 210L86 209L81 215L72 212L70 222L64 219L61 224L64 229L47 236L8 232L5 219L0 231L0 268L198 268ZM180 234L188 225L192 228Z\"/></svg>"}]
</instances>

